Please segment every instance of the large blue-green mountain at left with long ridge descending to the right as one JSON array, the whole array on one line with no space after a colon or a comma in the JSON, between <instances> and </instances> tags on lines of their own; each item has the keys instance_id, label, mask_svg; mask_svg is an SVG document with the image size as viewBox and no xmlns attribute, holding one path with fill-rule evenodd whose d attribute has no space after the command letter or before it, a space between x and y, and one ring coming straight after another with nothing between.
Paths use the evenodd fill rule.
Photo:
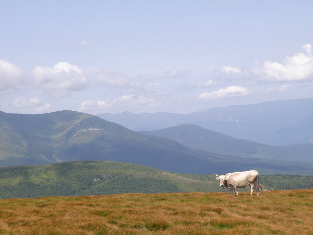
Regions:
<instances>
[{"instance_id":1,"label":"large blue-green mountain at left with long ridge descending to the right","mask_svg":"<svg viewBox=\"0 0 313 235\"><path fill-rule=\"evenodd\" d=\"M0 112L0 166L109 160L171 172L214 174L257 169L261 174L313 174L310 164L259 161L190 149L167 138L136 133L74 111Z\"/></svg>"}]
</instances>

